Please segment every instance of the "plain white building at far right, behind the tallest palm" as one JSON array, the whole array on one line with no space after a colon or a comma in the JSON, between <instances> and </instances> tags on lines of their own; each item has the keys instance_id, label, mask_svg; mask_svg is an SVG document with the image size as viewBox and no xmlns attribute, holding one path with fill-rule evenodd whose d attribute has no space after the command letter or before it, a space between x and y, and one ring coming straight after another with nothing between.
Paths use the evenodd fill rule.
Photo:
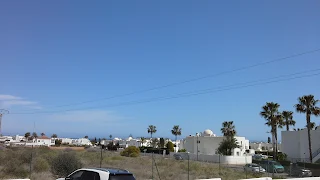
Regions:
<instances>
[{"instance_id":1,"label":"plain white building at far right, behind the tallest palm","mask_svg":"<svg viewBox=\"0 0 320 180\"><path fill-rule=\"evenodd\" d=\"M320 128L311 130L311 147L312 161L319 162L320 160ZM306 161L309 162L309 143L307 128L300 131L282 131L282 152L286 153L291 161Z\"/></svg>"}]
</instances>

